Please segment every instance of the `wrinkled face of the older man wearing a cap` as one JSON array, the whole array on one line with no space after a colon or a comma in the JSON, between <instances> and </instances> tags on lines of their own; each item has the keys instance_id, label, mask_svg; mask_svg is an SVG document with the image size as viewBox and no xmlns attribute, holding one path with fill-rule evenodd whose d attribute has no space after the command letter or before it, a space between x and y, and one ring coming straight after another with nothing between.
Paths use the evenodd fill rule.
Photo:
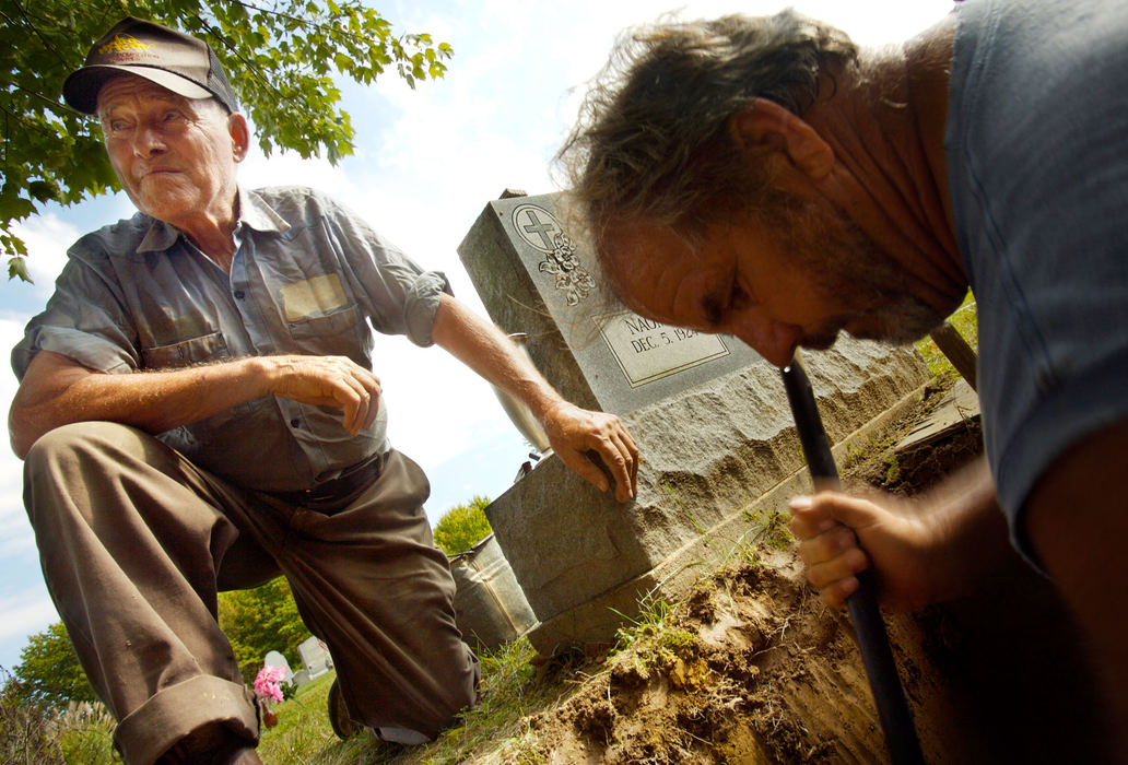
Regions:
<instances>
[{"instance_id":1,"label":"wrinkled face of the older man wearing a cap","mask_svg":"<svg viewBox=\"0 0 1128 765\"><path fill-rule=\"evenodd\" d=\"M221 106L123 74L102 87L98 118L109 161L139 210L174 225L230 211L241 151Z\"/></svg>"}]
</instances>

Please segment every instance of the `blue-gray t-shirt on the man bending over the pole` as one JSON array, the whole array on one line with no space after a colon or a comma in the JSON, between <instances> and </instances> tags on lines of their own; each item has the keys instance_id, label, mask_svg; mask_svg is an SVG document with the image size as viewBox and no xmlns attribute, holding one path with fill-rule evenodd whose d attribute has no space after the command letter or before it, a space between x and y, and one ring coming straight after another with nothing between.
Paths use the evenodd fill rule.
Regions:
<instances>
[{"instance_id":1,"label":"blue-gray t-shirt on the man bending over the pole","mask_svg":"<svg viewBox=\"0 0 1128 765\"><path fill-rule=\"evenodd\" d=\"M1128 3L957 8L949 184L987 456L1033 560L1022 511L1039 477L1128 419Z\"/></svg>"}]
</instances>

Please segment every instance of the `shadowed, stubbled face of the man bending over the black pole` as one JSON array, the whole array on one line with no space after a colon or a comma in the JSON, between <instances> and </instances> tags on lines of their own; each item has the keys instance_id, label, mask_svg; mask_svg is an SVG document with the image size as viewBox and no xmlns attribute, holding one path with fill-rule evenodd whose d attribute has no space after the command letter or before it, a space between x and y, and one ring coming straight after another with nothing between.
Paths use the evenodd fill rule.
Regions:
<instances>
[{"instance_id":1,"label":"shadowed, stubbled face of the man bending over the black pole","mask_svg":"<svg viewBox=\"0 0 1128 765\"><path fill-rule=\"evenodd\" d=\"M840 329L908 343L943 320L837 208L786 199L710 225L694 245L668 227L620 226L608 237L609 275L643 316L735 335L779 367L799 345L829 348Z\"/></svg>"}]
</instances>

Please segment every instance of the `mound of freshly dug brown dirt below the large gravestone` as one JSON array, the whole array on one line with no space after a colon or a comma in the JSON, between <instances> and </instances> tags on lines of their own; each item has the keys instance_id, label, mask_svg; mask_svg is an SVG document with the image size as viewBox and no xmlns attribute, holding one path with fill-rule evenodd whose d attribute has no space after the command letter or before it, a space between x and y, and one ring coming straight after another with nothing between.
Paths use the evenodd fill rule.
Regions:
<instances>
[{"instance_id":1,"label":"mound of freshly dug brown dirt below the large gravestone","mask_svg":"<svg viewBox=\"0 0 1128 765\"><path fill-rule=\"evenodd\" d=\"M558 710L534 719L549 763L873 762L883 756L848 627L795 572L744 563Z\"/></svg>"}]
</instances>

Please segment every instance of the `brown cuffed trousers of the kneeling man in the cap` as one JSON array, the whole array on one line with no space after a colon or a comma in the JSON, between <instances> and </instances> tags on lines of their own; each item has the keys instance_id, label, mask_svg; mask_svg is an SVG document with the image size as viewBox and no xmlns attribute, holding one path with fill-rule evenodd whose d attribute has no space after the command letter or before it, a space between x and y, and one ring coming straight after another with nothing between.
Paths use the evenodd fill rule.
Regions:
<instances>
[{"instance_id":1,"label":"brown cuffed trousers of the kneeling man in the cap","mask_svg":"<svg viewBox=\"0 0 1128 765\"><path fill-rule=\"evenodd\" d=\"M398 452L332 515L240 490L125 425L86 422L32 448L25 502L47 588L127 763L222 722L257 740L254 695L215 621L217 591L282 573L333 654L352 716L435 736L473 703L477 659Z\"/></svg>"}]
</instances>

